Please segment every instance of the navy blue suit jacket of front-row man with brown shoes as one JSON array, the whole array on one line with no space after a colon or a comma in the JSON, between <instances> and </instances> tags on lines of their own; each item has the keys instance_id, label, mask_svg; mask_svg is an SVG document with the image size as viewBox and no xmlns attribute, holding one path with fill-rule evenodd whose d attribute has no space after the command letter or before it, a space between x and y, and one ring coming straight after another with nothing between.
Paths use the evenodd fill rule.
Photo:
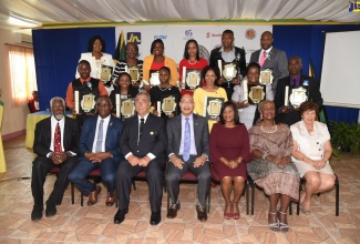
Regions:
<instances>
[{"instance_id":1,"label":"navy blue suit jacket of front-row man with brown shoes","mask_svg":"<svg viewBox=\"0 0 360 244\"><path fill-rule=\"evenodd\" d=\"M84 155L85 152L92 151L94 140L96 140L97 116L99 115L93 115L84 121L79 143L80 153L82 155ZM106 128L105 152L111 152L116 161L120 161L122 156L120 152L120 134L122 129L123 122L119 118L111 115L109 126Z\"/></svg>"}]
</instances>

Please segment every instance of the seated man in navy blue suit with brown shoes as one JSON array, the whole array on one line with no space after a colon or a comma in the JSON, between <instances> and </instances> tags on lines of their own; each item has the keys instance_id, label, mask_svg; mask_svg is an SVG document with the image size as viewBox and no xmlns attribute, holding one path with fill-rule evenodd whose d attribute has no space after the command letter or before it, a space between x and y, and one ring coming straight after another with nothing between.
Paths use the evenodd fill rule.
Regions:
<instances>
[{"instance_id":1,"label":"seated man in navy blue suit with brown shoes","mask_svg":"<svg viewBox=\"0 0 360 244\"><path fill-rule=\"evenodd\" d=\"M79 144L81 157L69 174L69 180L84 195L89 195L88 205L97 203L101 192L100 185L93 184L86 179L89 173L96 167L100 169L102 181L107 186L106 206L112 206L115 203L115 173L122 157L119 140L123 122L111 115L112 109L113 105L109 96L97 99L99 115L84 121Z\"/></svg>"}]
</instances>

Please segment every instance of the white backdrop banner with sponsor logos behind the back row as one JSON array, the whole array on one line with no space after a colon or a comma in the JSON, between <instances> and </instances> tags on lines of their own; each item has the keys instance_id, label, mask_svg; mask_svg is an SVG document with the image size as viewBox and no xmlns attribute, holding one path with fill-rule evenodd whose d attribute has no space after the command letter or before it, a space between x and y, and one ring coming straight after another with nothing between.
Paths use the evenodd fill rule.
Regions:
<instances>
[{"instance_id":1,"label":"white backdrop banner with sponsor logos behind the back row","mask_svg":"<svg viewBox=\"0 0 360 244\"><path fill-rule=\"evenodd\" d=\"M214 48L222 45L222 33L229 29L234 31L234 44L244 48L246 62L250 60L254 51L260 49L260 37L264 31L271 31L272 26L128 26L115 28L115 42L121 31L125 33L125 42L138 44L138 58L150 55L152 42L162 39L165 44L165 55L178 64L183 59L185 43L195 39L199 44L200 57L209 59Z\"/></svg>"}]
</instances>

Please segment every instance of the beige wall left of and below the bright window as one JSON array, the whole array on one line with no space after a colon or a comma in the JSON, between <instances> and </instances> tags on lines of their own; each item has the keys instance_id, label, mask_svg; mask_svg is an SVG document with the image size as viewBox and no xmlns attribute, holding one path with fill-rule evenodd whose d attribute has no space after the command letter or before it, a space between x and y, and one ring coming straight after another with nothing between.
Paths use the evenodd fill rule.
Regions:
<instances>
[{"instance_id":1,"label":"beige wall left of and below the bright window","mask_svg":"<svg viewBox=\"0 0 360 244\"><path fill-rule=\"evenodd\" d=\"M27 104L16 106L12 102L8 45L4 43L13 43L12 31L0 30L0 100L4 102L1 134L3 139L9 139L23 133L23 130L27 128L29 109Z\"/></svg>"}]
</instances>

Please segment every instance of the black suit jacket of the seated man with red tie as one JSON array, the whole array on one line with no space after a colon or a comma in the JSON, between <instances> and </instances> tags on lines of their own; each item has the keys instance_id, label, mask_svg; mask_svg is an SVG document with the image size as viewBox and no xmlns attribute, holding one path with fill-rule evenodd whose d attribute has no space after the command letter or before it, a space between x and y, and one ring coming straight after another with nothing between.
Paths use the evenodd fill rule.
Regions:
<instances>
[{"instance_id":1,"label":"black suit jacket of the seated man with red tie","mask_svg":"<svg viewBox=\"0 0 360 244\"><path fill-rule=\"evenodd\" d=\"M72 151L79 153L78 143L80 136L80 126L74 119L64 116L63 146L65 152ZM47 156L51 145L51 116L39 121L35 125L35 138L33 141L33 152L39 156Z\"/></svg>"}]
</instances>

